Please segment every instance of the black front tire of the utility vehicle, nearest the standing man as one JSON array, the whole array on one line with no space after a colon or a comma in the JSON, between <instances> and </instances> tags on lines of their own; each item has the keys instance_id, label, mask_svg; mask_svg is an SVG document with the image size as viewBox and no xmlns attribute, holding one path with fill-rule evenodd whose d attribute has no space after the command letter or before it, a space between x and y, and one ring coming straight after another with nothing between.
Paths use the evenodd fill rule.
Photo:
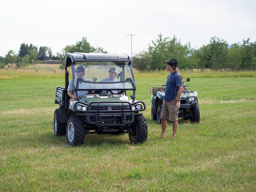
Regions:
<instances>
[{"instance_id":1,"label":"black front tire of the utility vehicle, nearest the standing man","mask_svg":"<svg viewBox=\"0 0 256 192\"><path fill-rule=\"evenodd\" d=\"M142 143L146 142L148 129L146 124L146 118L143 115L137 115L135 117L135 135L129 134L130 142Z\"/></svg>"}]
</instances>

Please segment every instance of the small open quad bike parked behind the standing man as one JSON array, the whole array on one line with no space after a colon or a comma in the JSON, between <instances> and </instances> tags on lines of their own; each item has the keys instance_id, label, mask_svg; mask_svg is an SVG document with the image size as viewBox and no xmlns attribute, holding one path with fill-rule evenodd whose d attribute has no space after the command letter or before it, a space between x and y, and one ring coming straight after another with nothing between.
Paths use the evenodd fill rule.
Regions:
<instances>
[{"instance_id":1,"label":"small open quad bike parked behind the standing man","mask_svg":"<svg viewBox=\"0 0 256 192\"><path fill-rule=\"evenodd\" d=\"M186 79L186 82L190 82L190 78ZM165 98L166 85L162 87L151 87L151 119L157 120L161 123L162 114L162 102ZM187 90L189 86L184 85L183 91L180 97L181 106L178 111L178 118L190 119L191 122L200 121L200 110L198 106L198 92L194 90Z\"/></svg>"}]
</instances>

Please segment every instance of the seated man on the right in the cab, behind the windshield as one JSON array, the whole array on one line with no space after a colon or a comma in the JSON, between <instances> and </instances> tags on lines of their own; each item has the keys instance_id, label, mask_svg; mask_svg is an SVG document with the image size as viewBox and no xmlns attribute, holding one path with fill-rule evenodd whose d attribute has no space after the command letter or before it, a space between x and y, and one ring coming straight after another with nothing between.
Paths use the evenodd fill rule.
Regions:
<instances>
[{"instance_id":1,"label":"seated man on the right in the cab, behind the windshield","mask_svg":"<svg viewBox=\"0 0 256 192\"><path fill-rule=\"evenodd\" d=\"M99 82L119 82L118 79L116 79L115 77L118 74L118 70L115 67L111 67L109 70L109 78L103 78L101 81ZM113 84L108 84L108 85L102 85L102 88L122 88L121 83L113 83ZM118 90L111 90L113 94L118 94ZM102 93L106 93L106 90L102 90ZM110 91L108 92L109 94Z\"/></svg>"}]
</instances>

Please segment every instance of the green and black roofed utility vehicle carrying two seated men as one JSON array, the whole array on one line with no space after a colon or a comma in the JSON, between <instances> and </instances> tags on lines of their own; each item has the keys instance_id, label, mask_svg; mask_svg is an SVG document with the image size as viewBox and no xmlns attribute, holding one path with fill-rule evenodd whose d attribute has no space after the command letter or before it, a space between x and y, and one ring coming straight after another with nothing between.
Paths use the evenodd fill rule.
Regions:
<instances>
[{"instance_id":1,"label":"green and black roofed utility vehicle carrying two seated men","mask_svg":"<svg viewBox=\"0 0 256 192\"><path fill-rule=\"evenodd\" d=\"M85 69L83 78L75 70ZM117 70L117 79L107 81L108 71ZM74 93L70 101L67 88L72 73ZM96 82L90 81L98 78ZM104 81L105 79L105 81ZM102 80L102 81L100 81ZM145 103L135 100L136 82L132 61L126 54L67 53L65 58L65 87L56 87L54 134L66 135L72 146L82 145L86 134L129 134L130 142L146 142L148 126L142 111ZM127 94L132 94L131 99Z\"/></svg>"}]
</instances>

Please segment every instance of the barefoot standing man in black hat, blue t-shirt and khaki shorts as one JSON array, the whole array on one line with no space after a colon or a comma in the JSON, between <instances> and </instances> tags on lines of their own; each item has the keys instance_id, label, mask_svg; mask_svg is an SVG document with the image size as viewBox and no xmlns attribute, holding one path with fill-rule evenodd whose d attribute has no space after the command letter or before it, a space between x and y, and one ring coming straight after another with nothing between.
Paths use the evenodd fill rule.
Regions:
<instances>
[{"instance_id":1,"label":"barefoot standing man in black hat, blue t-shirt and khaki shorts","mask_svg":"<svg viewBox=\"0 0 256 192\"><path fill-rule=\"evenodd\" d=\"M165 61L166 62L166 61ZM180 97L183 91L182 75L178 73L176 67L178 61L171 59L166 62L166 69L170 72L166 81L166 94L162 104L162 134L161 138L166 138L167 119L173 122L173 138L175 138L178 128L178 110L180 107Z\"/></svg>"}]
</instances>

